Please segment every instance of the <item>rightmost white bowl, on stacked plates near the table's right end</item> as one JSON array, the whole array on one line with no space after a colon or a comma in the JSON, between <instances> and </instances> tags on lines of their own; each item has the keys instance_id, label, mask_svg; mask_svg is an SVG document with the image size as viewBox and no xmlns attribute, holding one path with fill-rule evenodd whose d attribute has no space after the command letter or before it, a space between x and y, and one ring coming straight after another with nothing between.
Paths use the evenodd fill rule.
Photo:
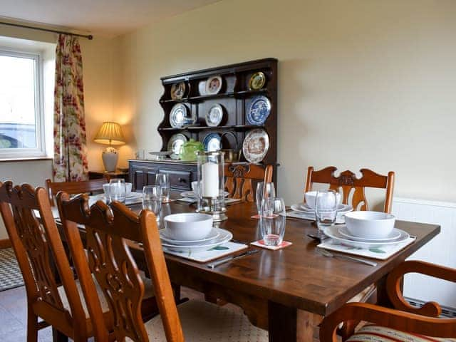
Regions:
<instances>
[{"instance_id":1,"label":"rightmost white bowl, on stacked plates near the table's right end","mask_svg":"<svg viewBox=\"0 0 456 342\"><path fill-rule=\"evenodd\" d=\"M394 228L395 217L385 212L347 212L348 232L363 239L383 239Z\"/></svg>"}]
</instances>

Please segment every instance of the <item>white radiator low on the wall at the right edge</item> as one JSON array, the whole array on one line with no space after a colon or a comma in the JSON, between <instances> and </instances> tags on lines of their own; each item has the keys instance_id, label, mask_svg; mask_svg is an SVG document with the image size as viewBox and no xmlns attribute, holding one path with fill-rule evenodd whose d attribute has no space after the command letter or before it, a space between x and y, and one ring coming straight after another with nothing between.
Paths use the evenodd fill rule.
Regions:
<instances>
[{"instance_id":1,"label":"white radiator low on the wall at the right edge","mask_svg":"<svg viewBox=\"0 0 456 342\"><path fill-rule=\"evenodd\" d=\"M400 220L440 224L441 232L409 259L456 268L456 203L396 197L392 213ZM456 308L456 284L420 274L408 274L404 296L419 301L437 301Z\"/></svg>"}]
</instances>

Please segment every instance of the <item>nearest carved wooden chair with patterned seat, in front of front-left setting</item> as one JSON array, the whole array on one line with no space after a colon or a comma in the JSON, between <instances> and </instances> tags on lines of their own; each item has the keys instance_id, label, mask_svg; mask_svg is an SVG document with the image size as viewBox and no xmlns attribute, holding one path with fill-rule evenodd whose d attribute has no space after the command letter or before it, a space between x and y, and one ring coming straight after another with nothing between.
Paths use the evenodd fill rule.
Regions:
<instances>
[{"instance_id":1,"label":"nearest carved wooden chair with patterned seat, in front of front-left setting","mask_svg":"<svg viewBox=\"0 0 456 342\"><path fill-rule=\"evenodd\" d=\"M103 289L110 307L113 332L110 333L100 313L100 301L93 291L85 291L93 325L100 327L95 341L267 341L267 332L255 328L248 319L232 311L204 301L187 301L176 305L160 244L155 215L149 210L139 214L119 202L108 207L101 201L88 207L87 195L70 199L57 195L63 225L71 237L71 252L81 281L93 278ZM88 254L83 252L78 222L85 226ZM160 316L147 323L140 319L144 285L132 255L132 244L142 244L147 268L152 276ZM93 287L93 284L90 284ZM253 339L254 338L254 339Z\"/></svg>"}]
</instances>

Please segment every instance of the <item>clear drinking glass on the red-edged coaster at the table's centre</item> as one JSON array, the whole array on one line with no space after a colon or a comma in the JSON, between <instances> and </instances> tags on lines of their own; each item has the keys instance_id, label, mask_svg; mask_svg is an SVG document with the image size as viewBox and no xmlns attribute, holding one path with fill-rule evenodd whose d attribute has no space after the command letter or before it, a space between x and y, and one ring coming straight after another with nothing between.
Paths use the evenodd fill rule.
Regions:
<instances>
[{"instance_id":1,"label":"clear drinking glass on the red-edged coaster at the table's centre","mask_svg":"<svg viewBox=\"0 0 456 342\"><path fill-rule=\"evenodd\" d=\"M266 246L279 246L284 241L286 217L283 198L271 197L261 204L260 230Z\"/></svg>"}]
</instances>

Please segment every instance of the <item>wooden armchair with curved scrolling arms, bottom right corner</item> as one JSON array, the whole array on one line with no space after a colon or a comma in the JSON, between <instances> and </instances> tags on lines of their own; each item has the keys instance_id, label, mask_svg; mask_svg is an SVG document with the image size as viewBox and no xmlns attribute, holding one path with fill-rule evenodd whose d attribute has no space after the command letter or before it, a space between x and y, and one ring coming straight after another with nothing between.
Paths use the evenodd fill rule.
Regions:
<instances>
[{"instance_id":1,"label":"wooden armchair with curved scrolling arms, bottom right corner","mask_svg":"<svg viewBox=\"0 0 456 342\"><path fill-rule=\"evenodd\" d=\"M456 318L439 318L442 308L434 301L423 307L411 306L401 292L404 274L420 273L456 282L456 269L429 264L424 261L405 261L396 267L386 281L386 291L393 308L350 303L323 319L320 328L321 342L336 342L340 323L350 328L343 334L343 341L456 341ZM356 331L360 321L366 324Z\"/></svg>"}]
</instances>

